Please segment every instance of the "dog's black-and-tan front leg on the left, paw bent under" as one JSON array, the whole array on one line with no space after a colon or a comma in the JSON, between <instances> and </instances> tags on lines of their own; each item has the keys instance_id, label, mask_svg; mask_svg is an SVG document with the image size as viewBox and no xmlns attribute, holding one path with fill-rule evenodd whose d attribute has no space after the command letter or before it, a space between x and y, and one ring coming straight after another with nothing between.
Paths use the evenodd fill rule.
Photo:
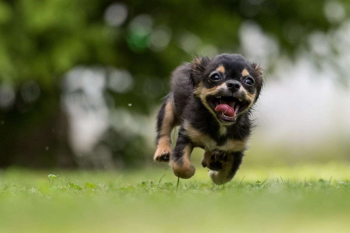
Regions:
<instances>
[{"instance_id":1,"label":"dog's black-and-tan front leg on the left, paw bent under","mask_svg":"<svg viewBox=\"0 0 350 233\"><path fill-rule=\"evenodd\" d=\"M170 156L170 166L177 177L188 179L195 174L195 168L190 162L193 144L183 131L183 129L179 131L179 137Z\"/></svg>"}]
</instances>

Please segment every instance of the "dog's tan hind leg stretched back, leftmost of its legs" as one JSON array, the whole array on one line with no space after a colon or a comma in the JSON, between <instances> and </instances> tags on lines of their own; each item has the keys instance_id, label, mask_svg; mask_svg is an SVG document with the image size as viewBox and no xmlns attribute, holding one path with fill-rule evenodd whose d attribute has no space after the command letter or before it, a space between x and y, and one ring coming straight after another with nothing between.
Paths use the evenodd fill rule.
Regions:
<instances>
[{"instance_id":1,"label":"dog's tan hind leg stretched back, leftmost of its legs","mask_svg":"<svg viewBox=\"0 0 350 233\"><path fill-rule=\"evenodd\" d=\"M157 150L154 154L154 161L168 162L171 153L171 132L174 127L174 98L172 94L165 97L157 117Z\"/></svg>"}]
</instances>

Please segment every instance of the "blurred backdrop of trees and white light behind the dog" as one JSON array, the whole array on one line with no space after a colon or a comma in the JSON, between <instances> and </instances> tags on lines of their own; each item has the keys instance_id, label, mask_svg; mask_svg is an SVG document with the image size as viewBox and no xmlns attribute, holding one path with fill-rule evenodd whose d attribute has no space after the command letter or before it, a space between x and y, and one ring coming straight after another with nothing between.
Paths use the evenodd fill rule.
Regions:
<instances>
[{"instance_id":1,"label":"blurred backdrop of trees and white light behind the dog","mask_svg":"<svg viewBox=\"0 0 350 233\"><path fill-rule=\"evenodd\" d=\"M1 0L0 167L166 166L152 158L170 72L219 53L265 69L246 164L350 162L349 11L348 0Z\"/></svg>"}]
</instances>

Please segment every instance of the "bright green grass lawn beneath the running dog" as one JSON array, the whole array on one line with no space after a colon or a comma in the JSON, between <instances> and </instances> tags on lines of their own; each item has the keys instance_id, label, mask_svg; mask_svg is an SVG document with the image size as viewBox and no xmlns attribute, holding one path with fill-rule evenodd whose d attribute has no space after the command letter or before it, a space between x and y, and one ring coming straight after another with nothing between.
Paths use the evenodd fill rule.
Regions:
<instances>
[{"instance_id":1,"label":"bright green grass lawn beneath the running dog","mask_svg":"<svg viewBox=\"0 0 350 233\"><path fill-rule=\"evenodd\" d=\"M0 232L349 232L349 163L243 164L224 186L166 168L0 170Z\"/></svg>"}]
</instances>

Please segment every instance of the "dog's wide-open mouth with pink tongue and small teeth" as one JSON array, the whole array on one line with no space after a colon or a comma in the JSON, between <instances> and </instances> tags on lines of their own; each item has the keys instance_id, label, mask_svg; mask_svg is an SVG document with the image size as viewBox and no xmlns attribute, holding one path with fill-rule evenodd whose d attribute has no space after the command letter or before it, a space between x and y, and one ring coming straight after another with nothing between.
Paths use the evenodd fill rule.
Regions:
<instances>
[{"instance_id":1,"label":"dog's wide-open mouth with pink tongue and small teeth","mask_svg":"<svg viewBox=\"0 0 350 233\"><path fill-rule=\"evenodd\" d=\"M219 119L227 122L235 121L237 115L249 105L248 101L240 100L233 96L210 96L207 98L207 101Z\"/></svg>"}]
</instances>

